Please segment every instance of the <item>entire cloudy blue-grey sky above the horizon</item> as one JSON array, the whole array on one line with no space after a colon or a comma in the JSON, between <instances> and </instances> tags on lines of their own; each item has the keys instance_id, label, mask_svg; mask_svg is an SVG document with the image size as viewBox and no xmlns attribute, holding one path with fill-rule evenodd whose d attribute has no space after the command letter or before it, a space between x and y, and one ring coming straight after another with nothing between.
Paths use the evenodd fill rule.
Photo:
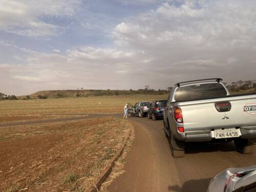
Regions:
<instances>
[{"instance_id":1,"label":"entire cloudy blue-grey sky above the horizon","mask_svg":"<svg viewBox=\"0 0 256 192\"><path fill-rule=\"evenodd\" d=\"M0 92L256 79L253 0L0 0Z\"/></svg>"}]
</instances>

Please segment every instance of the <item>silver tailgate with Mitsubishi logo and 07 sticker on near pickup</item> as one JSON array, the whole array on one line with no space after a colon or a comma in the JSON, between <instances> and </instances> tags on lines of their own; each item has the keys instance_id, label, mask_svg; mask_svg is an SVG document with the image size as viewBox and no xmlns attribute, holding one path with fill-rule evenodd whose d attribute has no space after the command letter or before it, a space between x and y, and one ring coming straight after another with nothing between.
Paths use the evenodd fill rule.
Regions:
<instances>
[{"instance_id":1,"label":"silver tailgate with Mitsubishi logo and 07 sticker on near pickup","mask_svg":"<svg viewBox=\"0 0 256 192\"><path fill-rule=\"evenodd\" d=\"M222 102L231 103L230 111L217 111L215 104ZM227 96L177 104L182 110L185 132L256 125L256 95Z\"/></svg>"}]
</instances>

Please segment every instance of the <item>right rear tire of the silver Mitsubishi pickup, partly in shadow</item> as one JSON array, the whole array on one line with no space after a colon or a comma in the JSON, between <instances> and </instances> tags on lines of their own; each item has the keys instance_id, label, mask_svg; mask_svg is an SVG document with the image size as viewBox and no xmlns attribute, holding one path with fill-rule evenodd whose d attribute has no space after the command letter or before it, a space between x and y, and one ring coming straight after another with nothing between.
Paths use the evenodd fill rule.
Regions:
<instances>
[{"instance_id":1,"label":"right rear tire of the silver Mitsubishi pickup, partly in shadow","mask_svg":"<svg viewBox=\"0 0 256 192\"><path fill-rule=\"evenodd\" d=\"M255 145L249 143L247 139L234 139L234 145L236 145L237 151L241 154L252 154L255 150Z\"/></svg>"}]
</instances>

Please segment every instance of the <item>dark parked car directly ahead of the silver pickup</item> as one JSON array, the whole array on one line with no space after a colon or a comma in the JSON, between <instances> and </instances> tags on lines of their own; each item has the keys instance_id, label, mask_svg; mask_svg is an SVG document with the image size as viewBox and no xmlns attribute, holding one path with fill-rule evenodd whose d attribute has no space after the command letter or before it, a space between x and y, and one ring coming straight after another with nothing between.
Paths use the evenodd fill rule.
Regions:
<instances>
[{"instance_id":1,"label":"dark parked car directly ahead of the silver pickup","mask_svg":"<svg viewBox=\"0 0 256 192\"><path fill-rule=\"evenodd\" d=\"M147 112L147 118L154 121L158 118L163 118L163 110L166 106L167 100L155 100L151 103Z\"/></svg>"}]
</instances>

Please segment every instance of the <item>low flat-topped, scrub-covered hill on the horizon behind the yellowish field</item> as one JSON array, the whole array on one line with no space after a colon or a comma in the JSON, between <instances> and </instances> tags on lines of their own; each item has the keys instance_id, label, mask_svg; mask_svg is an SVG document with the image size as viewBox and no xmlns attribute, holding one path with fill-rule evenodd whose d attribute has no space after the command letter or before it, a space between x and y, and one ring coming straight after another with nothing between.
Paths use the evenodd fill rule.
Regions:
<instances>
[{"instance_id":1,"label":"low flat-topped, scrub-covered hill on the horizon behind the yellowish field","mask_svg":"<svg viewBox=\"0 0 256 192\"><path fill-rule=\"evenodd\" d=\"M18 99L46 99L46 98L67 98L67 97L89 97L89 96L111 96L111 95L162 95L167 94L166 90L48 90L38 91L31 95L18 96Z\"/></svg>"}]
</instances>

